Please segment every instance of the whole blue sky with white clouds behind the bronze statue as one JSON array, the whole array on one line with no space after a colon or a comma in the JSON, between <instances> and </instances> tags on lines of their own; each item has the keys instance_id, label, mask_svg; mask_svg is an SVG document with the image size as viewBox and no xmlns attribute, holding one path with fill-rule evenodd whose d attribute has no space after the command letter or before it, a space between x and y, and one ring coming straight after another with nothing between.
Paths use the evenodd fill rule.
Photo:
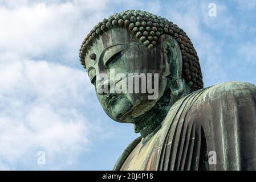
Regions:
<instances>
[{"instance_id":1,"label":"whole blue sky with white clouds behind the bronze statue","mask_svg":"<svg viewBox=\"0 0 256 182\"><path fill-rule=\"evenodd\" d=\"M209 3L216 3L216 17ZM0 0L0 169L112 169L138 135L101 109L79 48L97 22L127 9L181 27L197 50L205 86L256 84L253 0ZM46 152L45 165L38 165L38 151Z\"/></svg>"}]
</instances>

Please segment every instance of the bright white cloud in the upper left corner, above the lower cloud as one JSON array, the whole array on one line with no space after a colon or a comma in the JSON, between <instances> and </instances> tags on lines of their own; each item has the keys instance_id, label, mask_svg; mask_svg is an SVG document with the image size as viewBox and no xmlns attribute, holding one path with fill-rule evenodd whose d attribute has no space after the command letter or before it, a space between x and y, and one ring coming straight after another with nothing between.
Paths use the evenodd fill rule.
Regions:
<instances>
[{"instance_id":1,"label":"bright white cloud in the upper left corner, above the lower cloud","mask_svg":"<svg viewBox=\"0 0 256 182\"><path fill-rule=\"evenodd\" d=\"M7 1L0 5L0 48L25 57L54 55L63 63L77 59L84 37L104 18L106 3Z\"/></svg>"}]
</instances>

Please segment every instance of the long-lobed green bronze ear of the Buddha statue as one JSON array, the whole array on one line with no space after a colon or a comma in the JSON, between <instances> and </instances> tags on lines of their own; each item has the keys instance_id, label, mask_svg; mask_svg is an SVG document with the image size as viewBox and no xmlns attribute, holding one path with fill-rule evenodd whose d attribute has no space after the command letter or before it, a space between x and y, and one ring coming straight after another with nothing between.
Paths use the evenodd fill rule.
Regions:
<instances>
[{"instance_id":1,"label":"long-lobed green bronze ear of the Buddha statue","mask_svg":"<svg viewBox=\"0 0 256 182\"><path fill-rule=\"evenodd\" d=\"M185 82L182 81L182 56L180 46L170 35L161 35L159 38L166 68L169 68L170 90L175 96L184 92Z\"/></svg>"}]
</instances>

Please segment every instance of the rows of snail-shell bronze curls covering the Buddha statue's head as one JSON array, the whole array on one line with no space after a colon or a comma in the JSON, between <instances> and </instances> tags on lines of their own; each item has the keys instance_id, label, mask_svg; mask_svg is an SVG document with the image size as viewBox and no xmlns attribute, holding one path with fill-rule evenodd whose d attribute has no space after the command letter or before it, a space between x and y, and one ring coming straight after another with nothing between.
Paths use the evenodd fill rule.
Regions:
<instances>
[{"instance_id":1,"label":"rows of snail-shell bronze curls covering the Buddha statue's head","mask_svg":"<svg viewBox=\"0 0 256 182\"><path fill-rule=\"evenodd\" d=\"M183 62L182 77L190 86L192 92L204 87L197 52L189 37L181 28L176 24L173 24L173 22L161 18L161 16L148 13L147 11L121 11L120 13L109 16L107 19L103 19L102 22L99 22L86 36L79 50L80 62L85 69L86 65L84 58L88 53L88 50L94 45L96 39L109 29L115 27L127 28L128 31L135 35L148 49L152 49L157 44L160 35L168 34L173 36L181 49Z\"/></svg>"}]
</instances>

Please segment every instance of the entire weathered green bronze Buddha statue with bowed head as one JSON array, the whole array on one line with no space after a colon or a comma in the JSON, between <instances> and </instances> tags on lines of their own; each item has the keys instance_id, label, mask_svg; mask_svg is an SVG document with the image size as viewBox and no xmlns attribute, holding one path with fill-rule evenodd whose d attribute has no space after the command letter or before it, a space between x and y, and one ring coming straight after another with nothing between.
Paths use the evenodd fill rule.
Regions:
<instances>
[{"instance_id":1,"label":"entire weathered green bronze Buddha statue with bowed head","mask_svg":"<svg viewBox=\"0 0 256 182\"><path fill-rule=\"evenodd\" d=\"M225 82L203 88L196 50L176 24L139 10L109 16L84 40L80 61L105 113L133 123L141 134L114 170L256 169L256 86ZM111 69L126 77L158 74L157 97L97 92L97 77L111 75ZM209 154L216 154L216 162L209 162Z\"/></svg>"}]
</instances>

